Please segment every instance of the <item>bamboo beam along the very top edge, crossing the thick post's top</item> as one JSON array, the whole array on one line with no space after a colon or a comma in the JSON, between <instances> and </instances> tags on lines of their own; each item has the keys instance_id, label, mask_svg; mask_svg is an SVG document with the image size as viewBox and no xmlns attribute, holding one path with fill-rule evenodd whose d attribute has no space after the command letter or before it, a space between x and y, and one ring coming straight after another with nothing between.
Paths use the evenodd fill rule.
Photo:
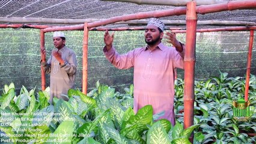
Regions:
<instances>
[{"instance_id":1,"label":"bamboo beam along the very top edge, crossing the thick post's top","mask_svg":"<svg viewBox=\"0 0 256 144\"><path fill-rule=\"evenodd\" d=\"M130 2L135 4L150 4L150 5L173 5L173 6L186 6L187 2L191 0L100 0L100 1L115 1L115 2ZM196 0L197 5L210 5L225 2L222 0Z\"/></svg>"}]
</instances>

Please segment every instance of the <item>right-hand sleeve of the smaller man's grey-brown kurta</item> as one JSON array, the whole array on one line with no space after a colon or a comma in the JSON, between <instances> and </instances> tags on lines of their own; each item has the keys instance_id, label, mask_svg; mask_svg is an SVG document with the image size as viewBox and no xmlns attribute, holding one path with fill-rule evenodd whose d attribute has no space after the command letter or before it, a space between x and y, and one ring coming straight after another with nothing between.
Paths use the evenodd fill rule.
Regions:
<instances>
[{"instance_id":1,"label":"right-hand sleeve of the smaller man's grey-brown kurta","mask_svg":"<svg viewBox=\"0 0 256 144\"><path fill-rule=\"evenodd\" d=\"M77 70L77 62L76 62L76 55L74 52L70 52L67 60L63 65L61 65L67 74L75 74Z\"/></svg>"}]
</instances>

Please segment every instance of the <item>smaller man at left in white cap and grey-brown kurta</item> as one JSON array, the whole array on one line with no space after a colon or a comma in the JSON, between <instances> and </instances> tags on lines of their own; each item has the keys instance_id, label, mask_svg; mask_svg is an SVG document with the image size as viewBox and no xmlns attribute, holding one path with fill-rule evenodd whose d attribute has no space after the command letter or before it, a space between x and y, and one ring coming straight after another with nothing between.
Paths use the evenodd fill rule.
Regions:
<instances>
[{"instance_id":1,"label":"smaller man at left in white cap and grey-brown kurta","mask_svg":"<svg viewBox=\"0 0 256 144\"><path fill-rule=\"evenodd\" d=\"M75 88L76 79L76 55L73 50L65 45L66 37L63 32L53 33L53 44L55 49L52 50L49 60L46 62L45 49L41 49L43 57L41 65L46 73L50 73L50 100L52 104L53 97L68 100L67 91ZM64 95L63 95L64 94Z\"/></svg>"}]
</instances>

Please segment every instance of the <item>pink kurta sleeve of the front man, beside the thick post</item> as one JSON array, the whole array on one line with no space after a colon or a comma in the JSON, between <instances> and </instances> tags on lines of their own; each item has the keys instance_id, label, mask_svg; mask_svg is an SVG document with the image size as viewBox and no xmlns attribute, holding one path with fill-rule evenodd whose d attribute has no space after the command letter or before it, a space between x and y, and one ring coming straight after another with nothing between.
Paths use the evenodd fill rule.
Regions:
<instances>
[{"instance_id":1,"label":"pink kurta sleeve of the front man, beside the thick post","mask_svg":"<svg viewBox=\"0 0 256 144\"><path fill-rule=\"evenodd\" d=\"M184 55L185 55L185 49L186 47L184 46L184 44L182 44L183 47L183 51L182 52L178 52L177 50L175 50L174 52L174 68L184 68Z\"/></svg>"}]
</instances>

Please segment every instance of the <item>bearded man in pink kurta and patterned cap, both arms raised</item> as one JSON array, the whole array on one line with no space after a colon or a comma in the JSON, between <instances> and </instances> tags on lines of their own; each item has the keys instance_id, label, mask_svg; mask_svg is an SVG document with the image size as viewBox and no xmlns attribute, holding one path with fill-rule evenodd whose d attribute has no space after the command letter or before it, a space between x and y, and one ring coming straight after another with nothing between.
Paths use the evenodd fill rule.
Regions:
<instances>
[{"instance_id":1,"label":"bearded man in pink kurta and patterned cap, both arms raised","mask_svg":"<svg viewBox=\"0 0 256 144\"><path fill-rule=\"evenodd\" d=\"M161 43L163 28L162 21L150 19L144 34L147 46L124 55L115 51L112 46L114 34L109 35L106 31L103 52L117 68L134 67L133 110L138 112L141 107L151 104L153 113L165 112L159 119L168 119L174 125L174 73L175 68L183 68L184 46L171 32L167 32L165 38L175 47L164 46Z\"/></svg>"}]
</instances>

